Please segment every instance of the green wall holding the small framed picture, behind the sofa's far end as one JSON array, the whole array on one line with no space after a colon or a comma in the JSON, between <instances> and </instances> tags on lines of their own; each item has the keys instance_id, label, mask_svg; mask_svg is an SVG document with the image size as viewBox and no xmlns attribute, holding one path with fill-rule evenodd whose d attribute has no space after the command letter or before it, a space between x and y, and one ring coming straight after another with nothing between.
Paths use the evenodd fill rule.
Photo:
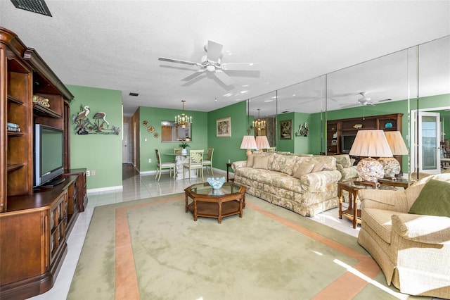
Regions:
<instances>
[{"instance_id":1,"label":"green wall holding the small framed picture, behind the sofa's far end","mask_svg":"<svg viewBox=\"0 0 450 300\"><path fill-rule=\"evenodd\" d=\"M207 139L208 146L214 148L212 166L226 170L228 161L243 161L246 159L245 151L240 149L244 135L247 135L247 101L241 101L224 108L208 113ZM216 136L216 120L231 117L231 137ZM250 120L251 122L251 120ZM250 132L253 135L253 131Z\"/></svg>"}]
</instances>

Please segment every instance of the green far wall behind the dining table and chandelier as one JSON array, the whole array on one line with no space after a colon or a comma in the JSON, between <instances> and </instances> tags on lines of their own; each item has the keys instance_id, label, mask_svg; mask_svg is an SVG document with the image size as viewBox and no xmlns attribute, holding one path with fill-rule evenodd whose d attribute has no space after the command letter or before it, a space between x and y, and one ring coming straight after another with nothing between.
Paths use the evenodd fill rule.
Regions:
<instances>
[{"instance_id":1,"label":"green far wall behind the dining table and chandelier","mask_svg":"<svg viewBox=\"0 0 450 300\"><path fill-rule=\"evenodd\" d=\"M144 107L139 108L139 140L141 144L140 165L136 166L139 172L148 172L156 170L156 154L155 149L160 151L161 161L174 161L174 156L165 156L165 153L174 153L174 148L178 147L180 142L161 142L161 121L174 121L175 115L180 114L179 109L168 108L153 108ZM200 111L185 111L186 115L192 115L191 135L192 141L188 142L191 146L189 150L208 148L208 113ZM149 125L155 127L154 132L148 132L148 125L143 125L143 121L148 121ZM158 133L159 137L154 137ZM215 155L215 153L214 153ZM148 162L151 159L151 163Z\"/></svg>"}]
</instances>

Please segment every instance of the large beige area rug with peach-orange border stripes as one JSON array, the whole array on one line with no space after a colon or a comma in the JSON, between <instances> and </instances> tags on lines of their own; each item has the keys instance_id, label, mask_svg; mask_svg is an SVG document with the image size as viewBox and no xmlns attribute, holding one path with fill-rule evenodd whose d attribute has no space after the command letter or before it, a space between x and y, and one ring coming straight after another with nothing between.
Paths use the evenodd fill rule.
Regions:
<instances>
[{"instance_id":1,"label":"large beige area rug with peach-orange border stripes","mask_svg":"<svg viewBox=\"0 0 450 300\"><path fill-rule=\"evenodd\" d=\"M95 208L68 299L406 299L356 238L247 195L198 218L184 194ZM423 297L409 297L423 298Z\"/></svg>"}]
</instances>

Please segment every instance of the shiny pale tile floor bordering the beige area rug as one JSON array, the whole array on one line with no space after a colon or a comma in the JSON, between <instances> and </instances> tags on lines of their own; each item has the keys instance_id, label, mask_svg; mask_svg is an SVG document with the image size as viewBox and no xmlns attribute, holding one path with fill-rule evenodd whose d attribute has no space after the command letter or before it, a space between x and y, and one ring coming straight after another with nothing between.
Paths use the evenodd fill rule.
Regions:
<instances>
[{"instance_id":1,"label":"shiny pale tile floor bordering the beige area rug","mask_svg":"<svg viewBox=\"0 0 450 300\"><path fill-rule=\"evenodd\" d=\"M109 192L89 192L88 191L88 205L83 213L79 213L77 222L68 238L68 254L65 257L58 277L56 277L55 285L46 293L34 296L30 299L39 300L60 300L66 299L70 282L75 273L79 254L82 251L84 237L91 221L92 213L96 206L106 204L113 204L122 201L131 201L135 199L144 199L152 196L159 196L164 194L174 194L184 192L184 189L191 185L189 180L172 180L168 173L163 173L160 182L155 181L155 175L139 175L131 165L124 165L123 170L123 189L109 191ZM207 173L205 173L207 176ZM226 172L221 173L215 171L214 176L226 176ZM200 180L192 180L192 184L201 182ZM299 218L304 218L299 215ZM352 221L347 218L338 218L338 208L330 209L329 211L319 213L311 218L317 222L323 223L337 230L346 232L355 237L358 236L359 227L354 229Z\"/></svg>"}]
</instances>

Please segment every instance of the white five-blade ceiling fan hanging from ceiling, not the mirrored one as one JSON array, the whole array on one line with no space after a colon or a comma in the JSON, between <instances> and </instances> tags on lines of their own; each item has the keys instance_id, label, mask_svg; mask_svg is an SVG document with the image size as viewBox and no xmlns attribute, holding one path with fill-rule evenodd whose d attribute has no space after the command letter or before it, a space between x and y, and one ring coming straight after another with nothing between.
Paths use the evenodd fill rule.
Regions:
<instances>
[{"instance_id":1,"label":"white five-blade ceiling fan hanging from ceiling, not the mirrored one","mask_svg":"<svg viewBox=\"0 0 450 300\"><path fill-rule=\"evenodd\" d=\"M184 78L184 81L193 80L198 75L205 73L213 73L218 80L224 83L224 85L233 85L233 79L229 77L224 71L228 70L255 70L256 63L222 63L221 62L221 51L224 45L217 42L208 41L204 46L206 55L200 60L200 63L195 63L193 61L181 61L179 59L160 57L159 61L168 61L169 63L184 63L186 65L197 65L200 67L195 73Z\"/></svg>"}]
</instances>

